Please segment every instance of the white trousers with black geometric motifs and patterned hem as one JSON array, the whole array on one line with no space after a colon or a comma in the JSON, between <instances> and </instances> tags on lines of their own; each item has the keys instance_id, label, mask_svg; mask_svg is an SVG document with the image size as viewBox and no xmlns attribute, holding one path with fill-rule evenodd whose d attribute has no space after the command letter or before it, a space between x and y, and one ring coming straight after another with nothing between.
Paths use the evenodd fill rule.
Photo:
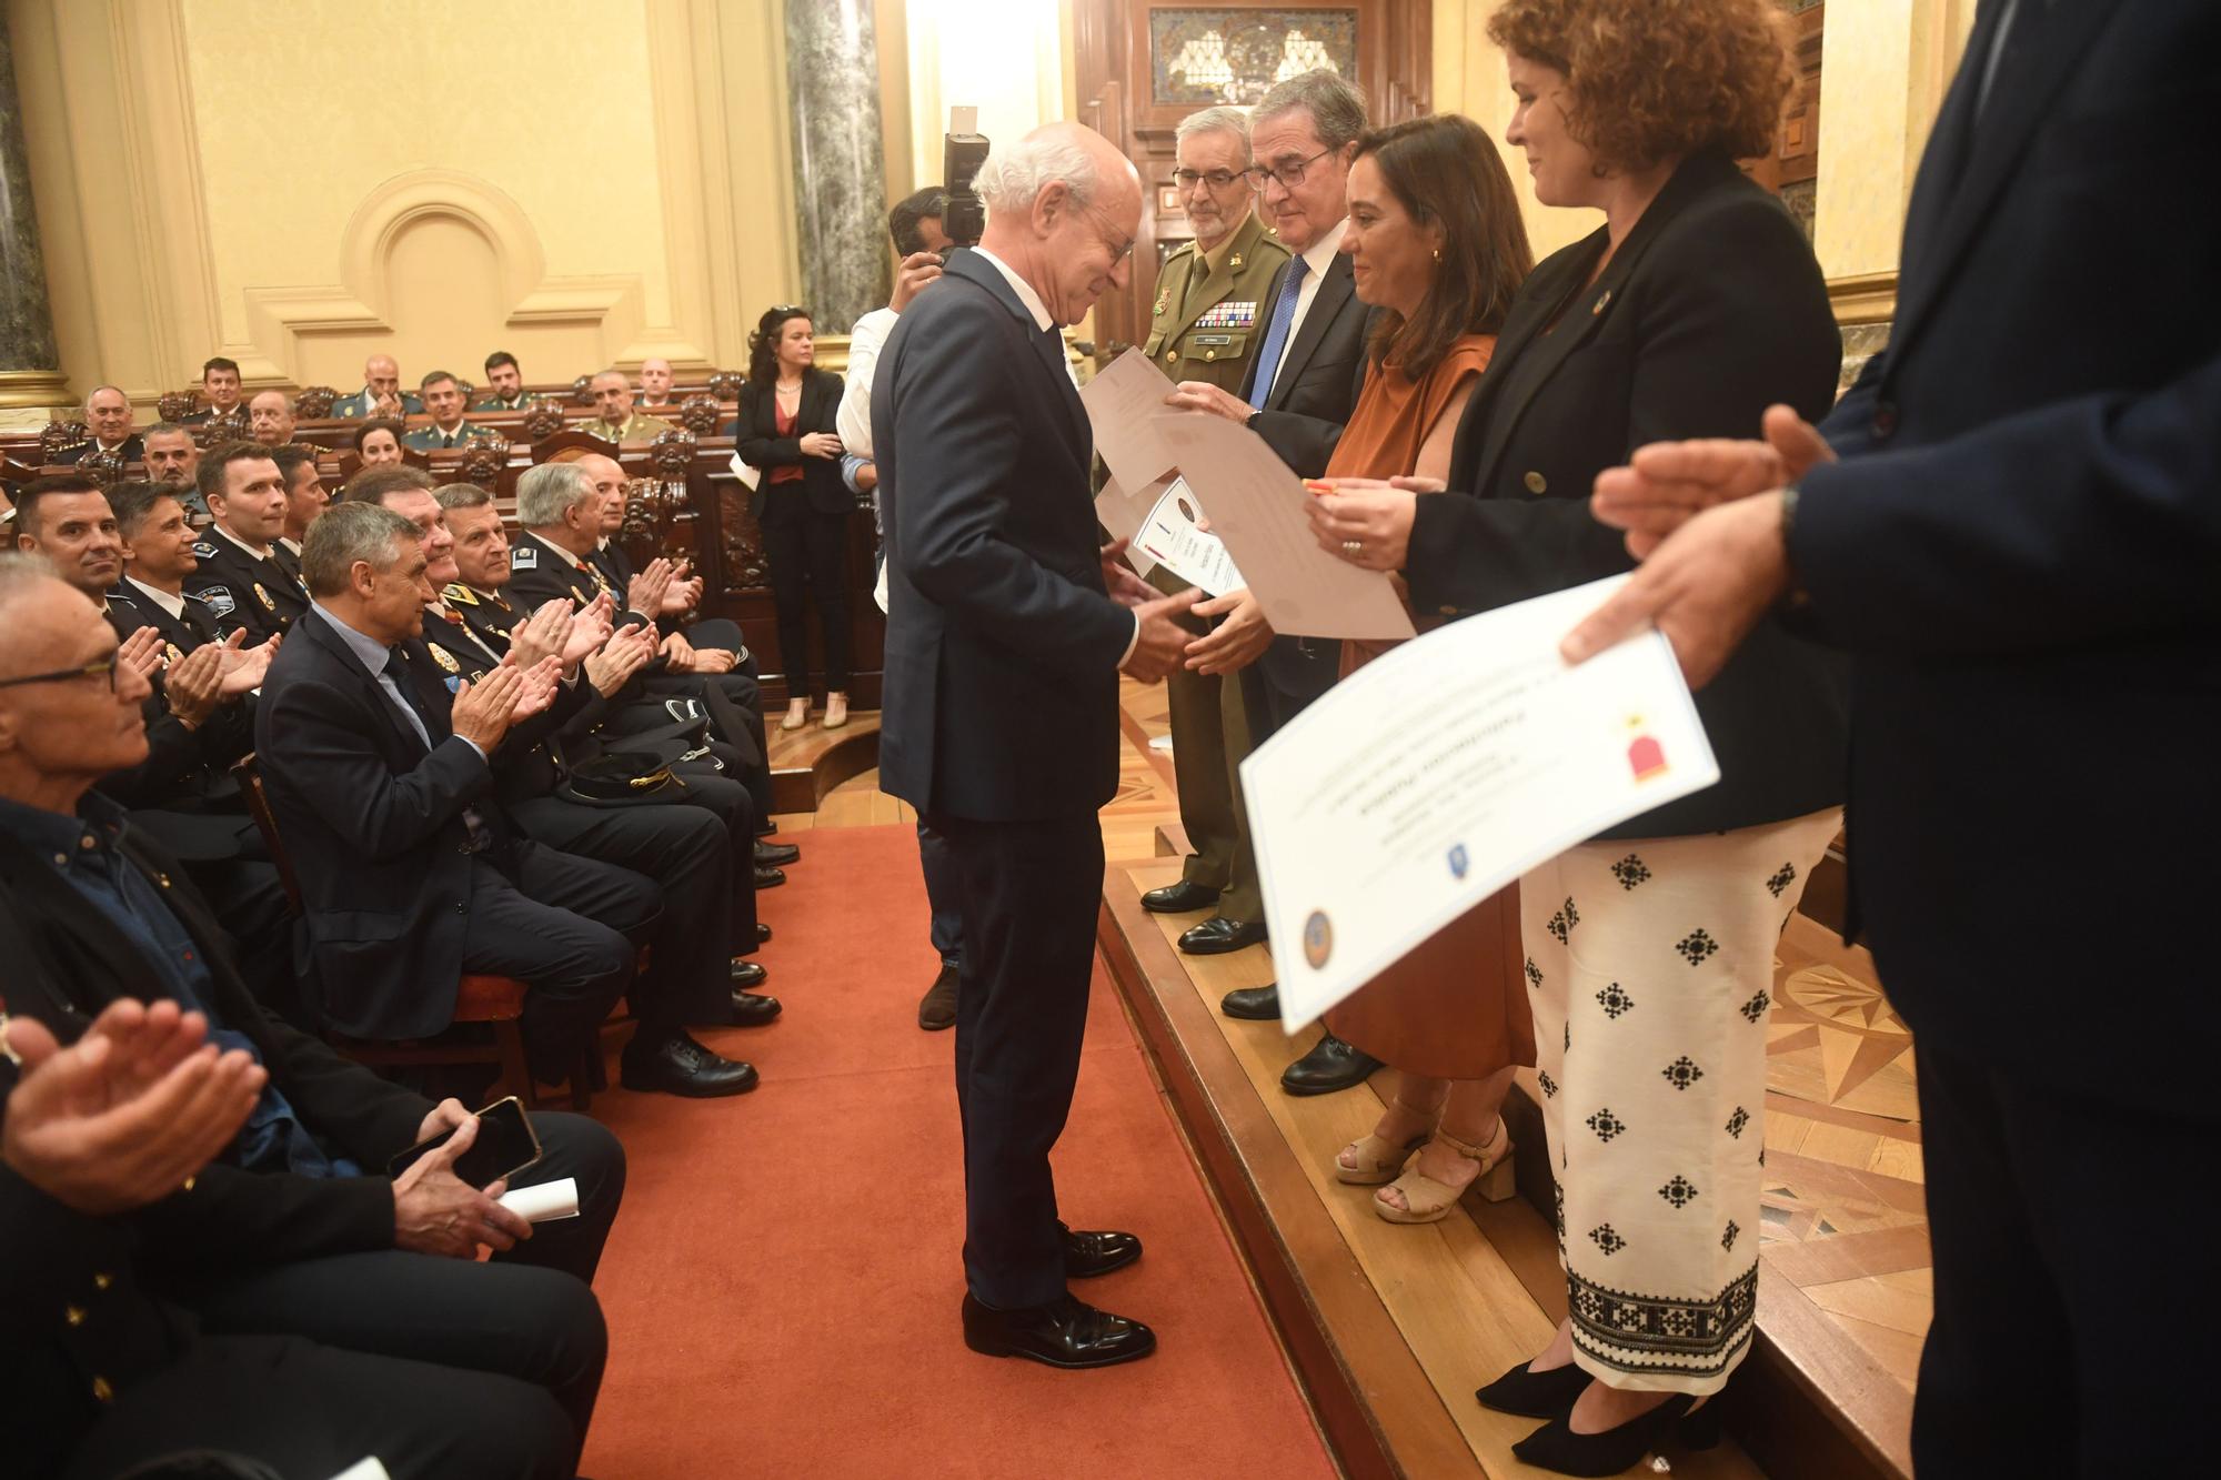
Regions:
<instances>
[{"instance_id":1,"label":"white trousers with black geometric motifs and patterned hem","mask_svg":"<svg viewBox=\"0 0 2221 1480\"><path fill-rule=\"evenodd\" d=\"M1572 1356L1715 1393L1759 1296L1775 947L1839 809L1584 842L1519 880Z\"/></svg>"}]
</instances>

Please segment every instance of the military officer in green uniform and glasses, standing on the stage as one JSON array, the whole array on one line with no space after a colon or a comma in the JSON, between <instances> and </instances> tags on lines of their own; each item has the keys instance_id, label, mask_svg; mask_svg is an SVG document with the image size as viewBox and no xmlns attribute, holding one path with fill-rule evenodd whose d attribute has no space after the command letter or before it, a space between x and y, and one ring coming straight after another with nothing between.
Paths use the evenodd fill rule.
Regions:
<instances>
[{"instance_id":1,"label":"military officer in green uniform and glasses, standing on the stage","mask_svg":"<svg viewBox=\"0 0 2221 1480\"><path fill-rule=\"evenodd\" d=\"M1208 380L1242 389L1264 338L1264 302L1273 273L1288 260L1257 220L1248 178L1248 118L1239 109L1204 109L1179 122L1173 180L1195 240L1164 260L1150 307L1144 353L1170 380ZM1166 571L1157 589L1186 582ZM1213 907L1188 929L1184 951L1208 956L1264 940L1264 898L1250 856L1235 767L1248 756L1248 722L1235 678L1179 669L1166 684L1173 709L1173 773L1179 820L1195 849L1177 884L1142 896L1146 909L1182 913Z\"/></svg>"}]
</instances>

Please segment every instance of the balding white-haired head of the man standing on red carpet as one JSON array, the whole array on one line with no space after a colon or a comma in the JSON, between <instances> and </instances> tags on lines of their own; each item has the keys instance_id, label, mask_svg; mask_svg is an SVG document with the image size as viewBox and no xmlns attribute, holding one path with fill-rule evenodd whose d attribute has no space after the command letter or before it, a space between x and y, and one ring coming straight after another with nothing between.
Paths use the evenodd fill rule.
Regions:
<instances>
[{"instance_id":1,"label":"balding white-haired head of the man standing on red carpet","mask_svg":"<svg viewBox=\"0 0 2221 1480\"><path fill-rule=\"evenodd\" d=\"M1077 122L1042 124L988 153L973 187L986 200L979 244L1011 264L1057 324L1126 287L1142 229L1142 176L1110 140Z\"/></svg>"}]
</instances>

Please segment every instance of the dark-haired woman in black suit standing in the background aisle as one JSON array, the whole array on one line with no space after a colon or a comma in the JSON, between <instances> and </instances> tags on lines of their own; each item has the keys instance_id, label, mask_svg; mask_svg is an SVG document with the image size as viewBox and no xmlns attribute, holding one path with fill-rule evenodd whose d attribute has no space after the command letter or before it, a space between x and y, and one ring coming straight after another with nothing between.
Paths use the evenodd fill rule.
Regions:
<instances>
[{"instance_id":1,"label":"dark-haired woman in black suit standing in the background aisle","mask_svg":"<svg viewBox=\"0 0 2221 1480\"><path fill-rule=\"evenodd\" d=\"M740 460L760 478L748 516L764 531L764 564L780 620L786 718L811 722L811 620L817 607L826 658L826 729L848 722L848 516L855 498L840 480L842 378L815 364L806 309L766 309L748 336L748 380L726 427Z\"/></svg>"}]
</instances>

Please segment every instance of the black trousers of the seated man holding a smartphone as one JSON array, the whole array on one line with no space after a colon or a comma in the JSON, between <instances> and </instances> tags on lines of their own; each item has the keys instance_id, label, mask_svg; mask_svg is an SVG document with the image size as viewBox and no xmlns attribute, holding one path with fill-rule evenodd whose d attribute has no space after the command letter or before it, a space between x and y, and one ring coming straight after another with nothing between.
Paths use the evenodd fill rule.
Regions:
<instances>
[{"instance_id":1,"label":"black trousers of the seated man holding a smartphone","mask_svg":"<svg viewBox=\"0 0 2221 1480\"><path fill-rule=\"evenodd\" d=\"M577 1178L580 1216L542 1222L489 1262L404 1249L222 1271L162 1271L158 1293L209 1336L295 1336L544 1389L584 1442L609 1333L589 1289L624 1200L624 1147L586 1116L533 1111L542 1158L520 1187ZM360 1456L358 1456L360 1458ZM575 1460L575 1451L571 1453ZM569 1473L569 1471L564 1471Z\"/></svg>"}]
</instances>

